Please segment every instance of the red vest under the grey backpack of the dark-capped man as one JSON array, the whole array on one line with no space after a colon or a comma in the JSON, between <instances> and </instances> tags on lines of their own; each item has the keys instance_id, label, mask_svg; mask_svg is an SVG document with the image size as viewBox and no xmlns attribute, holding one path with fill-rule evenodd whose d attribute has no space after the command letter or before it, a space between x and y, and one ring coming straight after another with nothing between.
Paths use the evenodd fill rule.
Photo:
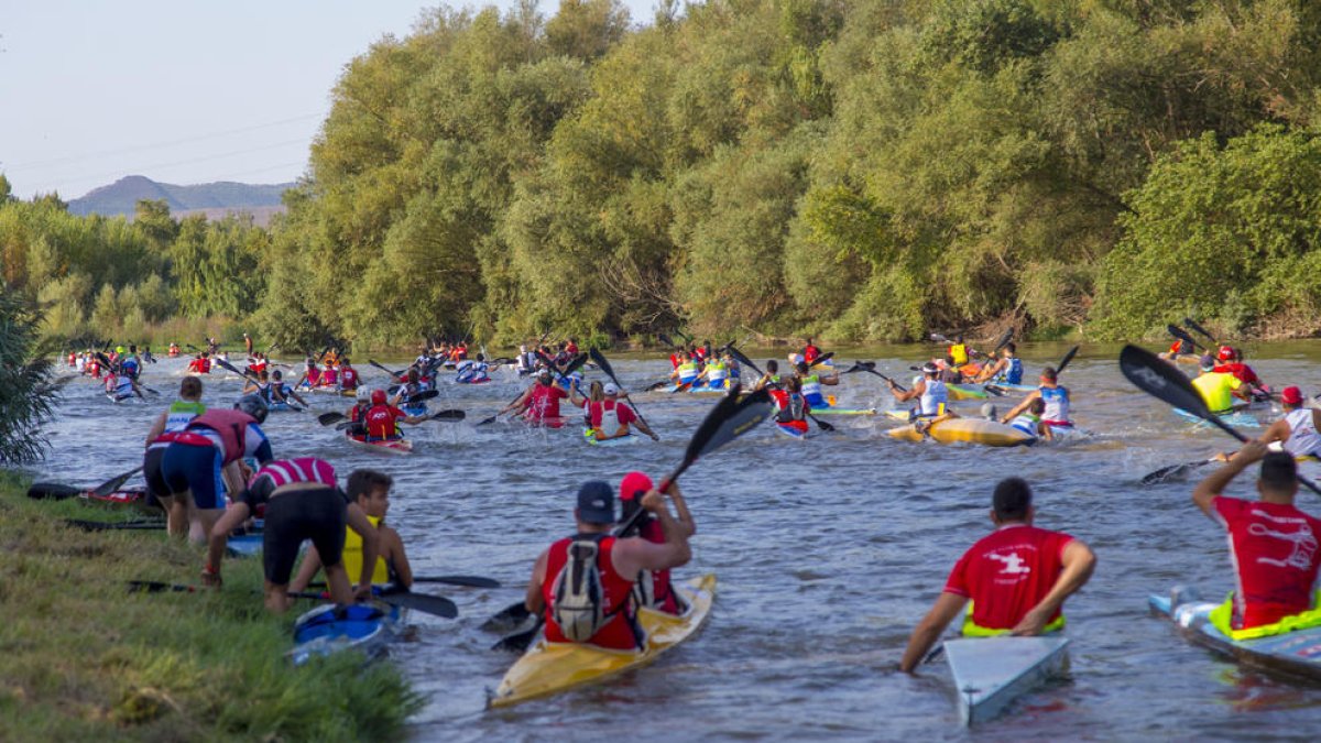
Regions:
<instances>
[{"instance_id":1,"label":"red vest under the grey backpack of the dark-capped man","mask_svg":"<svg viewBox=\"0 0 1321 743\"><path fill-rule=\"evenodd\" d=\"M542 583L542 599L546 602L546 640L548 643L571 643L555 621L555 587L556 579L568 565L569 545L575 539L592 538L594 535L579 535L560 539L551 545L546 557L546 580ZM633 580L624 578L614 570L610 558L614 550L616 538L601 537L597 541L597 572L601 580L601 608L605 623L597 629L588 643L601 648L616 650L635 650L642 646L642 632L633 620Z\"/></svg>"}]
</instances>

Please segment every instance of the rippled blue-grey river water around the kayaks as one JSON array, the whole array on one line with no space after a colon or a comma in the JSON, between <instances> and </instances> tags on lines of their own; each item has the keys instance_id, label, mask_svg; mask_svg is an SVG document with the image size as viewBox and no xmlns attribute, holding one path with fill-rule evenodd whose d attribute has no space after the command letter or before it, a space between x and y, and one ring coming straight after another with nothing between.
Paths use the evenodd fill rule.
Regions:
<instances>
[{"instance_id":1,"label":"rippled blue-grey river water around the kayaks","mask_svg":"<svg viewBox=\"0 0 1321 743\"><path fill-rule=\"evenodd\" d=\"M1063 350L1021 349L1026 377L1036 378ZM1258 373L1276 387L1303 383L1309 394L1317 391L1309 386L1321 358L1316 345L1251 350ZM919 346L851 349L839 360L875 360L877 369L906 379L913 375L908 365L923 353L929 350ZM318 427L312 412L347 407L338 398L317 395L312 412L272 414L266 430L277 456L321 456L341 475L357 467L391 473L390 521L415 572L487 575L506 586L446 588L460 607L457 620L412 615L413 639L396 646L394 657L427 697L413 721L420 740L1314 739L1321 687L1242 670L1148 616L1149 592L1185 583L1218 596L1231 587L1231 574L1219 528L1189 500L1192 484L1143 487L1139 480L1234 442L1181 422L1133 389L1119 374L1116 357L1118 348L1090 346L1065 373L1074 418L1092 432L1065 446L902 443L885 435L894 423L884 416L835 416L828 419L839 428L832 435L791 440L768 424L699 461L682 480L697 522L694 559L675 574L719 576L707 627L655 665L608 686L505 711L486 711L485 698L514 658L489 650L497 637L478 625L518 600L536 554L573 530L581 481L617 484L634 468L662 476L682 459L712 399L635 394L659 444L588 447L577 427L474 427L522 389L506 369L489 385L443 383L432 409L464 409L468 420L410 428L416 443L411 457L351 448L333 428ZM149 365L144 381L162 393L149 403L111 405L90 382L70 383L66 405L48 428L52 452L32 473L92 484L137 464L141 439L168 405L182 364ZM616 361L634 390L667 368L658 358ZM370 366L359 369L369 382L384 378ZM839 405L890 407L878 378L844 379L831 390ZM227 405L239 386L213 377L203 399ZM1000 405L1003 411L1011 403ZM971 414L976 403L959 407ZM898 673L897 662L954 561L989 530L996 481L1012 475L1032 483L1037 524L1085 539L1099 563L1091 583L1067 604L1070 678L1022 697L1008 714L968 732L958 727L943 662L911 677ZM1250 484L1231 492L1247 494ZM1306 493L1300 505L1321 512Z\"/></svg>"}]
</instances>

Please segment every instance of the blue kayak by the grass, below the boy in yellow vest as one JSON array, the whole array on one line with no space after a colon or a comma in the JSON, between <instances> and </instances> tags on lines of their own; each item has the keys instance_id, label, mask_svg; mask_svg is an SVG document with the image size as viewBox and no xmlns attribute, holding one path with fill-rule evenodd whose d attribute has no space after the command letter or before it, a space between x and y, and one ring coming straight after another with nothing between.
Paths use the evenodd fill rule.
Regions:
<instances>
[{"instance_id":1,"label":"blue kayak by the grass, below the boy in yellow vest","mask_svg":"<svg viewBox=\"0 0 1321 743\"><path fill-rule=\"evenodd\" d=\"M361 650L374 657L403 627L403 609L383 602L339 607L317 607L293 623L293 665L303 665L316 656L342 650Z\"/></svg>"}]
</instances>

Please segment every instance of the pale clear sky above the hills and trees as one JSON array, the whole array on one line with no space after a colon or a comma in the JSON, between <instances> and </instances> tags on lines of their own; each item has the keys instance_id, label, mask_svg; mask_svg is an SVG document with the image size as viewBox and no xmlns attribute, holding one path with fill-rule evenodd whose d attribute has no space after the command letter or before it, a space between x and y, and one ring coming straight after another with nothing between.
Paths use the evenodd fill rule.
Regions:
<instances>
[{"instance_id":1,"label":"pale clear sky above the hills and trees","mask_svg":"<svg viewBox=\"0 0 1321 743\"><path fill-rule=\"evenodd\" d=\"M18 198L66 201L131 175L293 181L343 66L439 4L0 0L0 173ZM654 5L625 4L634 24Z\"/></svg>"}]
</instances>

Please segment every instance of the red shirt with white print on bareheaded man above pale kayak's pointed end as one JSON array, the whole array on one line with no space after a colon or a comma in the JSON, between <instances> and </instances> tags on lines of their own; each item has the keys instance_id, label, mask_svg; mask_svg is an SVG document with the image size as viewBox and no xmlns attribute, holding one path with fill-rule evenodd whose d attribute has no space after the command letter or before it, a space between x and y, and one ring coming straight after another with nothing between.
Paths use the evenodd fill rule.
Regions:
<instances>
[{"instance_id":1,"label":"red shirt with white print on bareheaded man above pale kayak's pointed end","mask_svg":"<svg viewBox=\"0 0 1321 743\"><path fill-rule=\"evenodd\" d=\"M963 553L945 592L972 599L978 627L1012 629L1054 587L1071 541L1069 534L1025 524L1001 526ZM1046 623L1058 617L1055 611Z\"/></svg>"}]
</instances>

